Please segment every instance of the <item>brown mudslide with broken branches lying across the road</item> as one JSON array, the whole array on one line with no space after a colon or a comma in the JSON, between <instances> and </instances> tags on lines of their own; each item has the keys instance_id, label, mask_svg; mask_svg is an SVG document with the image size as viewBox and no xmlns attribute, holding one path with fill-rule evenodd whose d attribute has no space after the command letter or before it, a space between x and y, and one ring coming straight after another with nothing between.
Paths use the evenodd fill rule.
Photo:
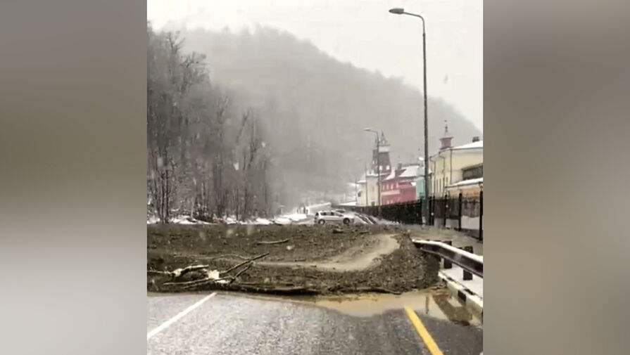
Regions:
<instances>
[{"instance_id":1,"label":"brown mudslide with broken branches lying across the road","mask_svg":"<svg viewBox=\"0 0 630 355\"><path fill-rule=\"evenodd\" d=\"M433 284L438 269L398 226L147 226L149 291L398 293Z\"/></svg>"}]
</instances>

